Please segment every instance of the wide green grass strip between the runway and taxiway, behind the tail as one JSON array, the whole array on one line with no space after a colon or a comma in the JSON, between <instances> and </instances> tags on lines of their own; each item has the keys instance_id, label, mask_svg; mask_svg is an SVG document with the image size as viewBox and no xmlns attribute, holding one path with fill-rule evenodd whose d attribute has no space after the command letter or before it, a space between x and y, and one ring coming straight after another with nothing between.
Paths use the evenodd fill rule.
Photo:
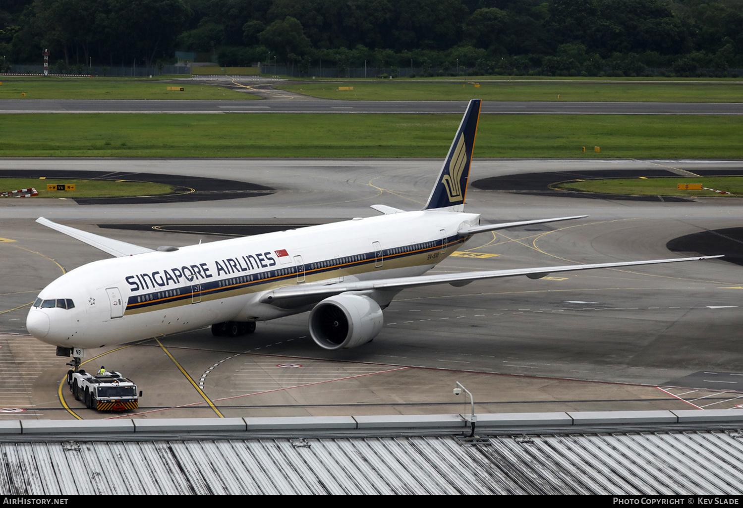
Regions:
<instances>
[{"instance_id":1,"label":"wide green grass strip between the runway and taxiway, behind the tail","mask_svg":"<svg viewBox=\"0 0 743 508\"><path fill-rule=\"evenodd\" d=\"M3 114L0 157L444 157L460 121L454 114ZM743 158L742 139L738 116L482 115L474 153Z\"/></svg>"}]
</instances>

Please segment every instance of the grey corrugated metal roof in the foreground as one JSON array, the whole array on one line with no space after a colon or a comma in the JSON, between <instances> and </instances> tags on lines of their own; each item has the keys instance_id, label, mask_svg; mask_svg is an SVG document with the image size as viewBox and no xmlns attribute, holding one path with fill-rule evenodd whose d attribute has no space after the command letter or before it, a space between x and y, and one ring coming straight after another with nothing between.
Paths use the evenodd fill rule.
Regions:
<instances>
[{"instance_id":1,"label":"grey corrugated metal roof in the foreground","mask_svg":"<svg viewBox=\"0 0 743 508\"><path fill-rule=\"evenodd\" d=\"M739 494L739 431L0 443L0 493Z\"/></svg>"}]
</instances>

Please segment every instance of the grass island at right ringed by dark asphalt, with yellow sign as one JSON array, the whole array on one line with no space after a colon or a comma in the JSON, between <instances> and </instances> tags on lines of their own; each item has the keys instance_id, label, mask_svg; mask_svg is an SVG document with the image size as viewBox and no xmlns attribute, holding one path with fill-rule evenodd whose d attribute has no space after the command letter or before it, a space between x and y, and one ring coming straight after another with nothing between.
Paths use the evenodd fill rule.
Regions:
<instances>
[{"instance_id":1,"label":"grass island at right ringed by dark asphalt, with yellow sign","mask_svg":"<svg viewBox=\"0 0 743 508\"><path fill-rule=\"evenodd\" d=\"M701 183L703 187L743 195L743 177L617 178L610 180L571 180L554 185L555 189L607 194L661 196L731 196L711 190L678 190L677 184Z\"/></svg>"}]
</instances>

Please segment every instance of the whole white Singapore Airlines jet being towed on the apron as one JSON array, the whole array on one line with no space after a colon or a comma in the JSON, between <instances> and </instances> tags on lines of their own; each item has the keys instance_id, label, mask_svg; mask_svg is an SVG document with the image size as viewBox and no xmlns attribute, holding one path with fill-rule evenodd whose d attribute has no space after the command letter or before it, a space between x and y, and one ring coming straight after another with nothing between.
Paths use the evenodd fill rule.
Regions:
<instances>
[{"instance_id":1,"label":"whole white Singapore Airlines jet being towed on the apron","mask_svg":"<svg viewBox=\"0 0 743 508\"><path fill-rule=\"evenodd\" d=\"M716 257L425 275L477 233L585 217L480 225L480 215L464 212L479 114L480 100L470 101L426 206L414 212L374 205L383 215L158 250L39 218L116 258L45 287L29 310L28 331L60 356L72 354L77 368L85 348L208 325L215 335L237 336L257 321L310 310L317 345L355 348L380 333L383 309L407 287Z\"/></svg>"}]
</instances>

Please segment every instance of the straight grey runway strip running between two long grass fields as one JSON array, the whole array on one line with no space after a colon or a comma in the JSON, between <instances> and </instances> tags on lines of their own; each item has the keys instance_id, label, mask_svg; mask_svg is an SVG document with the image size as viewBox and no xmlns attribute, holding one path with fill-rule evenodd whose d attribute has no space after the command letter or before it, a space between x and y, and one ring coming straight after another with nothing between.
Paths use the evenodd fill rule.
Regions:
<instances>
[{"instance_id":1,"label":"straight grey runway strip running between two long grass fields","mask_svg":"<svg viewBox=\"0 0 743 508\"><path fill-rule=\"evenodd\" d=\"M311 99L311 100L308 100ZM276 94L276 100L17 100L0 101L0 114L25 113L325 113L463 114L465 101L318 100ZM741 115L743 102L496 102L481 114L712 114Z\"/></svg>"}]
</instances>

